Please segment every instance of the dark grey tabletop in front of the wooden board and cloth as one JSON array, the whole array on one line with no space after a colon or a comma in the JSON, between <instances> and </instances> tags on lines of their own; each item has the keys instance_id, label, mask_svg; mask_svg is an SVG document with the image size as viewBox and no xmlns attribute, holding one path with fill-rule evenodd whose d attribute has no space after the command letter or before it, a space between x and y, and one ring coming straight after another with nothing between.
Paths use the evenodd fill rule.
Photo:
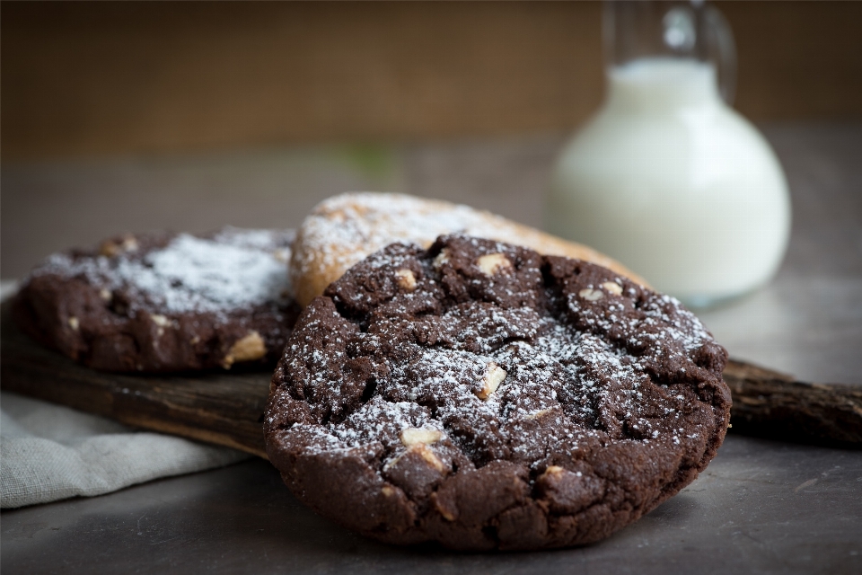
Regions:
<instances>
[{"instance_id":1,"label":"dark grey tabletop in front of the wooden board and cloth","mask_svg":"<svg viewBox=\"0 0 862 575\"><path fill-rule=\"evenodd\" d=\"M728 438L682 493L611 538L538 553L377 544L317 517L254 460L3 513L24 572L858 573L862 452Z\"/></svg>"}]
</instances>

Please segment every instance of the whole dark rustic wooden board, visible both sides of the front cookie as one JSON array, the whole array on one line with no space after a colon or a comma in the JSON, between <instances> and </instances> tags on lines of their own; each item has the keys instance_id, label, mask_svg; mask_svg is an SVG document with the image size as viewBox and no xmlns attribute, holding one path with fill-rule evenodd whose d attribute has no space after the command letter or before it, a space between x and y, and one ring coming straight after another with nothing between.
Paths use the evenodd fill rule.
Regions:
<instances>
[{"instance_id":1,"label":"whole dark rustic wooden board, visible both sides of the front cookie","mask_svg":"<svg viewBox=\"0 0 862 575\"><path fill-rule=\"evenodd\" d=\"M267 373L128 376L93 371L44 349L0 313L0 386L128 425L266 457ZM862 386L795 382L731 361L732 431L839 447L862 447Z\"/></svg>"}]
</instances>

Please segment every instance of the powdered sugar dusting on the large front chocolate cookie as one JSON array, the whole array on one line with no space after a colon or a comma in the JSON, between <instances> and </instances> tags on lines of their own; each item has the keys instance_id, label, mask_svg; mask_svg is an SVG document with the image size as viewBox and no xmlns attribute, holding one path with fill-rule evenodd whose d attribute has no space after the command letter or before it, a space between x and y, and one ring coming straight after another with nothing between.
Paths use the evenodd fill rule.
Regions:
<instances>
[{"instance_id":1,"label":"powdered sugar dusting on the large front chocolate cookie","mask_svg":"<svg viewBox=\"0 0 862 575\"><path fill-rule=\"evenodd\" d=\"M546 287L541 271L511 246L459 241L475 252L415 257L392 246L374 254L333 292L353 319L335 308L314 310L297 326L286 373L314 413L329 414L320 416L328 418L321 429L336 444L379 441L394 457L403 452L394 439L401 429L432 426L445 434L433 447L440 453L453 446L477 466L508 459L542 469L552 454L575 456L590 441L705 440L697 433L682 437L680 429L691 413L711 413L698 382L720 384L720 371L708 372L696 358L717 346L677 300L608 277L608 270L589 271L601 276L595 284ZM470 276L470 262L489 252L505 252L516 263L493 277L479 270ZM352 289L366 278L379 288L405 267L417 274L415 291L378 301L380 289ZM473 290L469 301L446 299L462 293L455 281ZM597 290L603 297L578 296ZM545 303L512 307L495 303L499 294ZM427 313L435 302L443 302L442 310ZM339 332L326 327L330 322L342 326ZM328 332L321 336L321 330ZM360 364L362 376L353 384L359 367L351 366ZM489 388L491 373L498 386ZM351 411L354 404L360 407Z\"/></svg>"}]
</instances>

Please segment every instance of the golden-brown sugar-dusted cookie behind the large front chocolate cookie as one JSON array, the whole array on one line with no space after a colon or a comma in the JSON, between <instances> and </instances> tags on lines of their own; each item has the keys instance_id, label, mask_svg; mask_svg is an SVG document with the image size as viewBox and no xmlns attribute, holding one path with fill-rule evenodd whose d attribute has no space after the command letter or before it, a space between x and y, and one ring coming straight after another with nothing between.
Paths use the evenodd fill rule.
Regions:
<instances>
[{"instance_id":1,"label":"golden-brown sugar-dusted cookie behind the large front chocolate cookie","mask_svg":"<svg viewBox=\"0 0 862 575\"><path fill-rule=\"evenodd\" d=\"M644 279L603 253L487 211L406 194L349 192L323 200L299 228L290 260L296 301L308 305L353 264L390 243L417 243L427 248L438 235L453 233L591 261L646 285Z\"/></svg>"}]
</instances>

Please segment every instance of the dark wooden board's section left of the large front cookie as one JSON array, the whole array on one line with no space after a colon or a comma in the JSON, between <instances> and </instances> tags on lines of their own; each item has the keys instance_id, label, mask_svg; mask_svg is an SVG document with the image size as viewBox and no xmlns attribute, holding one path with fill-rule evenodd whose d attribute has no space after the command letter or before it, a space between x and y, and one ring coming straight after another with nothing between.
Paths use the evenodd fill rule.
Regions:
<instances>
[{"instance_id":1,"label":"dark wooden board's section left of the large front cookie","mask_svg":"<svg viewBox=\"0 0 862 575\"><path fill-rule=\"evenodd\" d=\"M4 390L266 457L261 423L270 374L128 376L93 371L24 336L8 319L7 306L0 319Z\"/></svg>"}]
</instances>

